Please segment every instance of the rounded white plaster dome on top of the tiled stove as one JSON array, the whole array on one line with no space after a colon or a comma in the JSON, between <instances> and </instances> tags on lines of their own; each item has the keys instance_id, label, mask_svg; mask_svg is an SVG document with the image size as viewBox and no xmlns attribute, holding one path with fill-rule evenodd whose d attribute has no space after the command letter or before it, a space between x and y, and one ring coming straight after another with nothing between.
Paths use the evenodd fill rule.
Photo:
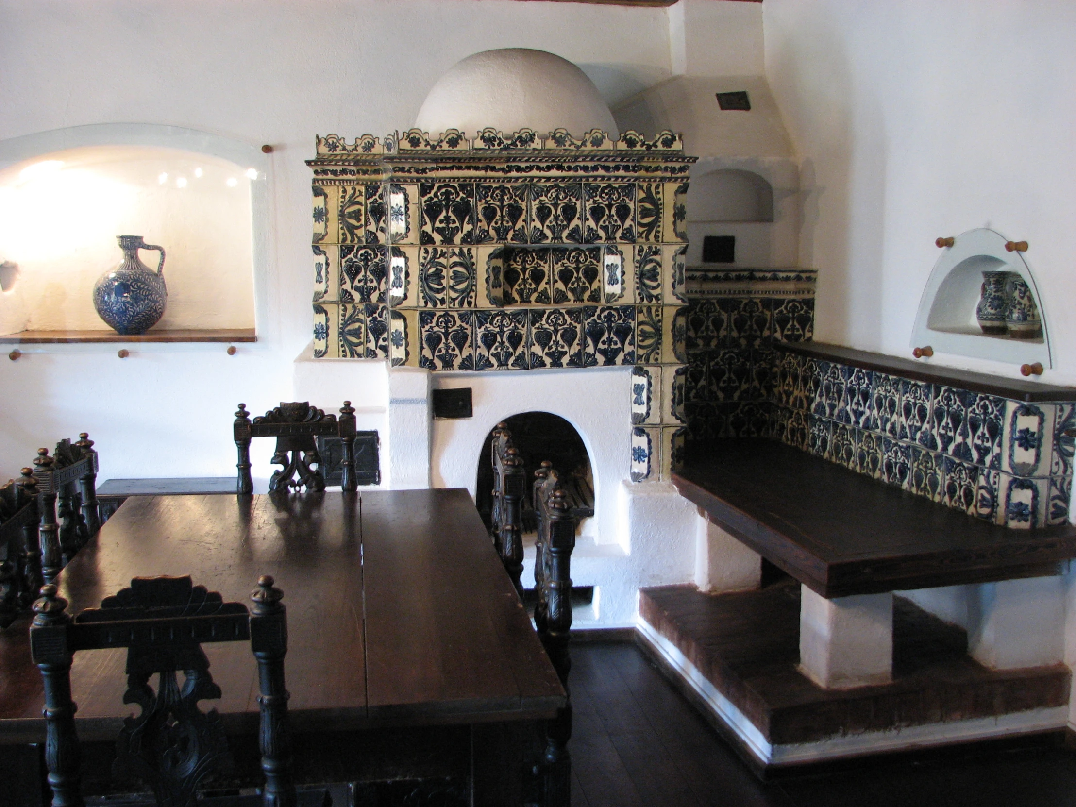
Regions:
<instances>
[{"instance_id":1,"label":"rounded white plaster dome on top of the tiled stove","mask_svg":"<svg viewBox=\"0 0 1076 807\"><path fill-rule=\"evenodd\" d=\"M620 134L594 82L567 59L526 47L483 51L457 61L419 110L414 125L436 137L447 129L476 133L492 126L505 133L546 134L591 129Z\"/></svg>"}]
</instances>

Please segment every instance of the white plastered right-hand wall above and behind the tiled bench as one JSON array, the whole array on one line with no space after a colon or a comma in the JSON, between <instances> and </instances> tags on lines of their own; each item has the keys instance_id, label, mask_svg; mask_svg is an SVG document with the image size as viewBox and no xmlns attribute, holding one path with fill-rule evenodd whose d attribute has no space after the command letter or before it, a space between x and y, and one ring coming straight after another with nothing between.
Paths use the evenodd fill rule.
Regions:
<instances>
[{"instance_id":1,"label":"white plastered right-hand wall above and behind the tiled bench","mask_svg":"<svg viewBox=\"0 0 1076 807\"><path fill-rule=\"evenodd\" d=\"M816 339L906 355L934 239L990 227L1029 242L1056 312L1042 380L1076 383L1065 348L1076 338L1065 315L1076 303L1076 5L766 0L762 11L766 76L799 159L799 260L820 270ZM933 360L1018 377L988 359ZM909 594L974 634L990 592ZM1067 603L1072 665L1072 584ZM1033 622L1024 629L1046 652L1059 621Z\"/></svg>"}]
</instances>

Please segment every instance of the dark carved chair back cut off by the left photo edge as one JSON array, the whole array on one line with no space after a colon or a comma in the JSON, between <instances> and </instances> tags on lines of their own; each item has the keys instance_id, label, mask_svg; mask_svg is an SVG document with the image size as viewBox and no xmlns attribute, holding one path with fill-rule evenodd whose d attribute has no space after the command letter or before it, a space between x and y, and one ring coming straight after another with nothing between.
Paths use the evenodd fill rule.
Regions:
<instances>
[{"instance_id":1,"label":"dark carved chair back cut off by the left photo edge","mask_svg":"<svg viewBox=\"0 0 1076 807\"><path fill-rule=\"evenodd\" d=\"M41 587L38 482L30 468L0 486L0 627L30 607Z\"/></svg>"}]
</instances>

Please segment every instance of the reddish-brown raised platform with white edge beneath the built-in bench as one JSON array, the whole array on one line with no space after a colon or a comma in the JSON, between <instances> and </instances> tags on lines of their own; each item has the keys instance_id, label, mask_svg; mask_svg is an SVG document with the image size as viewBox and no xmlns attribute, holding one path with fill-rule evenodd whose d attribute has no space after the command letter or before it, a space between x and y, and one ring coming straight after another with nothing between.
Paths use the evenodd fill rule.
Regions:
<instances>
[{"instance_id":1,"label":"reddish-brown raised platform with white edge beneath the built-in bench","mask_svg":"<svg viewBox=\"0 0 1076 807\"><path fill-rule=\"evenodd\" d=\"M901 597L892 683L851 690L823 690L797 671L793 581L719 595L692 585L642 589L639 615L643 646L756 766L1065 725L1065 665L987 669L967 655L962 628Z\"/></svg>"}]
</instances>

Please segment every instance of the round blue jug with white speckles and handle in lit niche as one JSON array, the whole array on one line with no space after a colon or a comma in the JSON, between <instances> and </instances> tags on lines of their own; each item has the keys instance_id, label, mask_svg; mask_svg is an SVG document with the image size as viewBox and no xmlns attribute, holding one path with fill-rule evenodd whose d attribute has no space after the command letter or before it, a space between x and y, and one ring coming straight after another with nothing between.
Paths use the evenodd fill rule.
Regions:
<instances>
[{"instance_id":1,"label":"round blue jug with white speckles and handle in lit niche","mask_svg":"<svg viewBox=\"0 0 1076 807\"><path fill-rule=\"evenodd\" d=\"M141 236L116 236L124 259L94 284L97 315L123 336L144 334L165 314L165 250L147 244ZM139 260L139 250L157 250L157 271Z\"/></svg>"}]
</instances>

